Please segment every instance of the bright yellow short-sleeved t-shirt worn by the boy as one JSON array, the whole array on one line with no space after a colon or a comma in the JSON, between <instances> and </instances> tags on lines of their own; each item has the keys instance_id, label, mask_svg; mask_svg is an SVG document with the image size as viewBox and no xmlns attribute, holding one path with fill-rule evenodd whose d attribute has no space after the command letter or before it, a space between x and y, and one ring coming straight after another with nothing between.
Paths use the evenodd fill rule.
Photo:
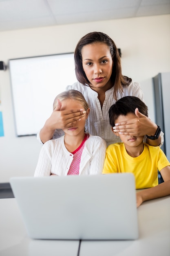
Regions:
<instances>
[{"instance_id":1,"label":"bright yellow short-sleeved t-shirt worn by the boy","mask_svg":"<svg viewBox=\"0 0 170 256\"><path fill-rule=\"evenodd\" d=\"M146 189L158 185L158 170L170 165L159 146L144 143L144 150L138 157L126 152L124 143L108 146L103 173L133 173L136 189Z\"/></svg>"}]
</instances>

